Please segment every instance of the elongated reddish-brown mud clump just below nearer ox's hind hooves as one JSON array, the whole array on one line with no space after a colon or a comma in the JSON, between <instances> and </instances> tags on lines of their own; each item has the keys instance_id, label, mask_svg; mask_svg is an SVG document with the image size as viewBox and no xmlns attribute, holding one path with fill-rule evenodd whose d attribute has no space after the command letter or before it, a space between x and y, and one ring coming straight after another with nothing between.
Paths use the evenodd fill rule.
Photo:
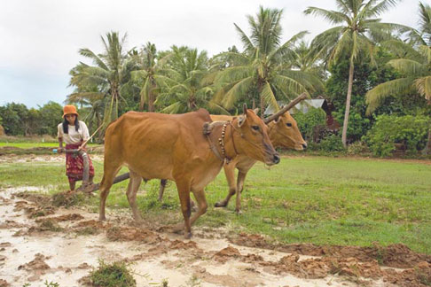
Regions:
<instances>
[{"instance_id":1,"label":"elongated reddish-brown mud clump just below nearer ox's hind hooves","mask_svg":"<svg viewBox=\"0 0 431 287\"><path fill-rule=\"evenodd\" d=\"M107 229L106 237L111 241L140 241L146 244L157 244L162 238L148 229L134 227L112 227Z\"/></svg>"}]
</instances>

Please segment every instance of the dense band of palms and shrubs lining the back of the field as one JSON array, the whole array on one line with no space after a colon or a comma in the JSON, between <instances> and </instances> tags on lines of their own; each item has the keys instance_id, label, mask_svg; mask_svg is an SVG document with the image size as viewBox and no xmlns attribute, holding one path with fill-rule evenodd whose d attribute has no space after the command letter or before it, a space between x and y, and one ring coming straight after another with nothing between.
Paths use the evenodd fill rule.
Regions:
<instances>
[{"instance_id":1,"label":"dense band of palms and shrubs lining the back of the field","mask_svg":"<svg viewBox=\"0 0 431 287\"><path fill-rule=\"evenodd\" d=\"M126 50L127 34L109 32L101 36L104 50L79 50L87 61L71 67L74 92L61 104L77 105L92 132L130 110L178 113L202 107L236 114L247 103L261 112L277 111L278 101L305 92L330 101L340 126L317 135L316 127L325 129L324 113L296 113L304 136L315 143L310 147L340 150L331 146L339 136L342 149L369 145L379 156L396 148L411 155L429 152L431 128L424 119L431 118L431 7L419 2L417 15L411 15L418 27L404 27L379 19L398 0L334 1L336 11L304 11L334 26L311 43L303 41L307 31L289 31L296 34L283 41L283 11L264 7L247 15L248 27L234 25L242 49L232 46L214 56L188 46L157 50L155 43ZM55 136L60 120L61 105L54 102L30 109L13 102L0 106L8 136ZM408 126L415 143L385 120ZM423 125L411 124L418 121ZM98 140L103 141L103 130ZM381 140L384 147L377 143Z\"/></svg>"}]
</instances>

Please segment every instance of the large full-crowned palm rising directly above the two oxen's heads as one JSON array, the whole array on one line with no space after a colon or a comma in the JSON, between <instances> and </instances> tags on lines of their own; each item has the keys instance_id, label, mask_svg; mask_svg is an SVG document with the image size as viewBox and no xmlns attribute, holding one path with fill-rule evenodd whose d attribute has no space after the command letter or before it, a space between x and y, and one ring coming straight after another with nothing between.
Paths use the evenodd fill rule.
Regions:
<instances>
[{"instance_id":1,"label":"large full-crowned palm rising directly above the two oxen's heads","mask_svg":"<svg viewBox=\"0 0 431 287\"><path fill-rule=\"evenodd\" d=\"M321 86L310 74L286 67L286 55L292 53L294 43L307 32L302 31L281 43L282 13L282 10L261 6L255 18L248 15L250 36L235 24L245 50L222 54L235 58L235 66L225 68L216 76L215 102L231 109L239 100L247 100L251 95L260 102L263 117L265 105L277 111L277 99L296 97L315 85Z\"/></svg>"}]
</instances>

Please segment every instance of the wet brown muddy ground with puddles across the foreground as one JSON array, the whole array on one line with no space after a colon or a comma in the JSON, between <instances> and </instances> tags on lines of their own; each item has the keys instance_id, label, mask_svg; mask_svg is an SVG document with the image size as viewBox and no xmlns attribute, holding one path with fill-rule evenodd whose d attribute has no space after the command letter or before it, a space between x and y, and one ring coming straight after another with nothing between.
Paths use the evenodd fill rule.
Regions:
<instances>
[{"instance_id":1,"label":"wet brown muddy ground with puddles across the foreground","mask_svg":"<svg viewBox=\"0 0 431 287\"><path fill-rule=\"evenodd\" d=\"M26 190L23 192L23 190ZM98 260L126 261L137 286L427 286L431 257L387 247L270 244L259 235L194 228L192 240L137 226L128 213L64 208L0 190L0 286L90 286ZM65 193L64 196L73 196Z\"/></svg>"}]
</instances>

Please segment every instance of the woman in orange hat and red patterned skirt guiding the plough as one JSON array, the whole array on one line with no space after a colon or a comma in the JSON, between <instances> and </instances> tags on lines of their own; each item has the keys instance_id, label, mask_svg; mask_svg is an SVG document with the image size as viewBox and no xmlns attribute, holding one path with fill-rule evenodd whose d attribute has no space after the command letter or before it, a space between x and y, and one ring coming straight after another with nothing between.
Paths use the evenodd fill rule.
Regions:
<instances>
[{"instance_id":1,"label":"woman in orange hat and red patterned skirt guiding the plough","mask_svg":"<svg viewBox=\"0 0 431 287\"><path fill-rule=\"evenodd\" d=\"M94 167L83 144L90 138L89 129L82 120L74 105L63 108L63 122L58 126L59 152L66 143L66 175L70 190L74 191L76 181L82 180L82 190L90 191L94 176ZM75 150L68 152L67 150Z\"/></svg>"}]
</instances>

